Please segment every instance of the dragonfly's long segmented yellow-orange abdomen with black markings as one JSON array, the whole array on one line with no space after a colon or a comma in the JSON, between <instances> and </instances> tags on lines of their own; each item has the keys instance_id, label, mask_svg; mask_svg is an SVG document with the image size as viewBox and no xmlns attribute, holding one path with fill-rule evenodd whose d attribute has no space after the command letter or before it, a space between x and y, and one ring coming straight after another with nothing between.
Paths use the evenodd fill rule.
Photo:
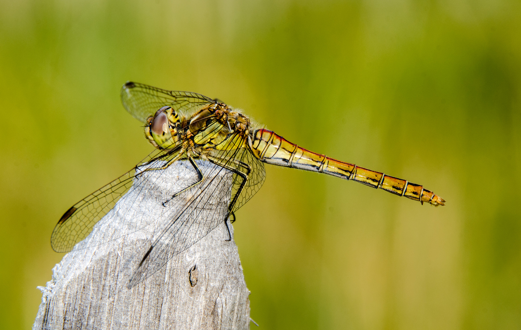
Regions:
<instances>
[{"instance_id":1,"label":"dragonfly's long segmented yellow-orange abdomen with black markings","mask_svg":"<svg viewBox=\"0 0 521 330\"><path fill-rule=\"evenodd\" d=\"M418 200L422 204L444 205L445 200L421 185L313 153L266 129L255 131L251 148L259 160L268 164L326 173Z\"/></svg>"}]
</instances>

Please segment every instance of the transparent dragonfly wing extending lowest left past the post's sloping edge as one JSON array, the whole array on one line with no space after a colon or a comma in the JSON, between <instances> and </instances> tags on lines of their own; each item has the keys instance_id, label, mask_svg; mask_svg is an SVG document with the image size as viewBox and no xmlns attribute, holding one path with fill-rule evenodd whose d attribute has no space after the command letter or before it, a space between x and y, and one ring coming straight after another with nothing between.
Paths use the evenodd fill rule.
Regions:
<instances>
[{"instance_id":1,"label":"transparent dragonfly wing extending lowest left past the post's sloping edge","mask_svg":"<svg viewBox=\"0 0 521 330\"><path fill-rule=\"evenodd\" d=\"M141 172L136 172L138 166L118 177L118 179L98 189L89 196L73 205L58 221L51 235L51 246L56 252L68 252L83 240L92 231L96 222L100 221L108 211L116 205L116 202L133 185L137 175L143 170L154 170L156 160L169 161L176 156L180 146L176 149L154 149L150 155L139 164ZM140 188L134 186L133 188Z\"/></svg>"}]
</instances>

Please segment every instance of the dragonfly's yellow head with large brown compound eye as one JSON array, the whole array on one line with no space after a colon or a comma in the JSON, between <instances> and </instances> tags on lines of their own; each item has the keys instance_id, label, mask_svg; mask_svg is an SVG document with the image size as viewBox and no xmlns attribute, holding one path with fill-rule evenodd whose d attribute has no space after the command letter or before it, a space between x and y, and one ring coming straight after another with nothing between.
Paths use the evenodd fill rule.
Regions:
<instances>
[{"instance_id":1,"label":"dragonfly's yellow head with large brown compound eye","mask_svg":"<svg viewBox=\"0 0 521 330\"><path fill-rule=\"evenodd\" d=\"M168 149L176 145L180 120L175 110L168 106L160 108L147 122L145 136L155 147Z\"/></svg>"}]
</instances>

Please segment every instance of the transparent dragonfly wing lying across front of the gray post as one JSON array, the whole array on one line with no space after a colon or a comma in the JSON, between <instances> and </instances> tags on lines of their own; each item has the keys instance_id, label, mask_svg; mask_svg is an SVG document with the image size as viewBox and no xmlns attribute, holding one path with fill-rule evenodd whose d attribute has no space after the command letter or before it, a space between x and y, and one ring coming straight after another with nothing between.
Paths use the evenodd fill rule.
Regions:
<instances>
[{"instance_id":1,"label":"transparent dragonfly wing lying across front of the gray post","mask_svg":"<svg viewBox=\"0 0 521 330\"><path fill-rule=\"evenodd\" d=\"M205 167L204 181L194 187L195 192L183 193L191 194L191 197L187 199L183 194L176 197L186 202L176 210L169 225L152 243L132 275L129 288L154 274L170 258L205 237L225 221L231 211L237 210L253 197L264 183L264 165L249 149L238 145L237 148L211 155L209 159L213 164ZM202 160L197 162L202 164ZM246 174L247 172L249 173ZM230 209L230 202L235 196L237 201ZM175 201L172 202L175 204ZM222 207L224 203L227 206L225 208Z\"/></svg>"}]
</instances>

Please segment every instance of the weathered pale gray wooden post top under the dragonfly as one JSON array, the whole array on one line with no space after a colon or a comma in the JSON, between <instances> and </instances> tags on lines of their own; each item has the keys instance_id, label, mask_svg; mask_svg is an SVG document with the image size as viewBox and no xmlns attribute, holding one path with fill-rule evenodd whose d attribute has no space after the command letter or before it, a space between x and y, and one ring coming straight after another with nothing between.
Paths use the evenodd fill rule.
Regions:
<instances>
[{"instance_id":1,"label":"weathered pale gray wooden post top under the dragonfly","mask_svg":"<svg viewBox=\"0 0 521 330\"><path fill-rule=\"evenodd\" d=\"M209 163L201 167L203 173L209 169ZM91 235L56 264L52 280L40 287L43 297L33 329L249 328L250 291L237 246L233 239L226 240L224 222L146 280L127 288L155 235L183 204L182 198L191 195L180 196L171 208L161 202L197 178L184 161L160 177L154 172L143 173L143 189L131 188ZM221 172L224 180L199 206L201 217L216 210L221 220L226 217L231 173ZM230 231L233 237L231 225Z\"/></svg>"}]
</instances>

